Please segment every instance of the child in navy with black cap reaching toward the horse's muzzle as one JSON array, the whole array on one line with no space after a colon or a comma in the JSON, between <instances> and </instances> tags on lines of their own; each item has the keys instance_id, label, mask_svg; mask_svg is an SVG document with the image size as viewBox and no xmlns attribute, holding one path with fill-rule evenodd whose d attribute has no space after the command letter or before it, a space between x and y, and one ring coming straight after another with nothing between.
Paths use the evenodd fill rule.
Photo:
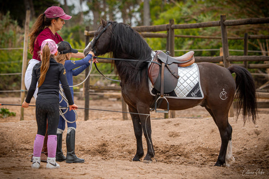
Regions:
<instances>
[{"instance_id":1,"label":"child in navy with black cap reaching toward the horse's muzzle","mask_svg":"<svg viewBox=\"0 0 269 179\"><path fill-rule=\"evenodd\" d=\"M73 49L69 42L61 41L58 43L58 55L57 61L60 64L63 64L66 69L66 76L69 86L73 86L73 76L79 75L83 72L89 65L91 58L94 56L94 53L90 51L88 55L80 59L78 61L71 61L71 54L77 53L78 50ZM95 62L94 59L93 62ZM73 87L70 87L70 91L72 94L72 98L74 100L74 90ZM67 103L65 100L62 100L62 96L60 95L60 106L66 106ZM57 129L57 151L56 151L56 161L64 161L66 163L83 163L84 159L78 158L75 154L75 133L76 133L76 113L75 111L65 111L63 109L64 117L67 120L67 136L66 136L66 148L67 148L67 155L66 157L63 154L62 150L62 138L63 132L65 130L66 121L62 115L60 115L59 125ZM66 113L65 113L66 112Z\"/></svg>"}]
</instances>

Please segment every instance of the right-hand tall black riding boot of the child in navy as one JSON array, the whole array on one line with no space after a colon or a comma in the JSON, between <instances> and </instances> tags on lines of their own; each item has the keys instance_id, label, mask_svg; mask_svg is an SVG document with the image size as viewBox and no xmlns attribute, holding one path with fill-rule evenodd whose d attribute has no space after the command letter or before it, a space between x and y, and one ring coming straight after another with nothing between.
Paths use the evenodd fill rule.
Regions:
<instances>
[{"instance_id":1,"label":"right-hand tall black riding boot of the child in navy","mask_svg":"<svg viewBox=\"0 0 269 179\"><path fill-rule=\"evenodd\" d=\"M75 130L71 130L66 135L66 163L84 163L84 159L78 158L75 154Z\"/></svg>"}]
</instances>

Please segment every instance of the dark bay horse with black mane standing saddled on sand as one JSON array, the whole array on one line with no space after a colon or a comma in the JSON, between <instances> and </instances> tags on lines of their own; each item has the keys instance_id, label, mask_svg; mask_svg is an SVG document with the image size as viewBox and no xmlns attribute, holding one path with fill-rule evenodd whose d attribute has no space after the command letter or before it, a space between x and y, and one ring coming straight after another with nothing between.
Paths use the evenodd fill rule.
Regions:
<instances>
[{"instance_id":1,"label":"dark bay horse with black mane standing saddled on sand","mask_svg":"<svg viewBox=\"0 0 269 179\"><path fill-rule=\"evenodd\" d=\"M115 61L115 67L121 79L122 95L128 104L129 111L133 113L149 114L150 107L154 103L154 96L149 92L148 63L151 60L152 49L141 35L129 25L101 19L92 41L84 49L87 54L92 50L95 55L110 52L114 58L140 59L137 62ZM242 108L243 120L252 120L255 124L257 110L255 85L250 73L239 66L231 66L228 69L212 63L198 63L200 84L204 96L202 99L173 99L168 98L171 110L182 110L201 105L210 113L219 128L221 135L221 149L216 166L229 165L234 160L232 155L232 127L228 122L228 112L235 98ZM232 73L236 74L234 80ZM226 97L220 97L225 89ZM160 109L166 109L167 103L162 102ZM240 112L238 110L238 114ZM237 116L238 116L237 114ZM140 161L144 151L142 135L147 143L147 153L143 161L152 162L154 149L151 140L150 118L141 114L132 114L132 122L136 137L137 150L133 161Z\"/></svg>"}]
</instances>

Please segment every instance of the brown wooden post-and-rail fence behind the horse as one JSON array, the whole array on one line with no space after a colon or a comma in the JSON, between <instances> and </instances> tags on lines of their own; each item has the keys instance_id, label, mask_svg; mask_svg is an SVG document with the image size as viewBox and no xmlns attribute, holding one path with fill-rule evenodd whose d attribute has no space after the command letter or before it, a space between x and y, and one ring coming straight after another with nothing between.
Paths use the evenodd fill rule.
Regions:
<instances>
[{"instance_id":1,"label":"brown wooden post-and-rail fence behind the horse","mask_svg":"<svg viewBox=\"0 0 269 179\"><path fill-rule=\"evenodd\" d=\"M202 22L202 23L194 23L194 24L174 24L174 20L170 20L169 24L164 25L156 25L156 26L138 26L132 27L134 30L138 31L143 37L150 38L167 38L166 50L170 51L170 55L174 56L175 54L175 38L182 37L191 37L191 38L218 38L222 39L222 49L223 56L195 56L195 62L211 62L211 63L219 63L223 62L223 66L228 68L230 66L230 62L244 62L244 66L249 69L253 68L269 68L269 64L247 64L247 62L255 61L255 62L264 62L269 61L269 56L248 56L246 53L242 56L230 56L229 55L229 46L228 39L244 39L244 44L247 44L248 39L269 39L268 35L246 35L240 38L228 37L227 36L227 26L238 26L238 25L248 25L248 24L266 24L269 23L269 18L248 18L248 19L240 19L240 20L226 20L226 16L222 15L220 17L220 21L212 21L212 22ZM205 27L221 27L221 37L208 37L208 36L187 36L187 35L175 35L175 29L193 29L193 28L205 28ZM90 37L93 37L95 31L89 31L89 28L86 28L84 31L84 35L86 37L86 45L90 41ZM166 31L167 33L149 33L149 32L162 32ZM244 45L247 47L247 45ZM247 51L247 49L244 49ZM103 61L99 61L103 62ZM86 71L86 74L88 71ZM85 75L86 75L85 74ZM89 108L89 79L85 82L85 108ZM269 99L269 93L258 93L257 96L259 98ZM126 105L126 104L125 104ZM123 104L124 107L124 104ZM126 108L126 107L124 107ZM171 113L172 117L175 117L173 113ZM85 110L84 120L88 120L89 112ZM167 118L168 115L165 117ZM123 116L124 119L127 119L127 114L125 113Z\"/></svg>"}]
</instances>

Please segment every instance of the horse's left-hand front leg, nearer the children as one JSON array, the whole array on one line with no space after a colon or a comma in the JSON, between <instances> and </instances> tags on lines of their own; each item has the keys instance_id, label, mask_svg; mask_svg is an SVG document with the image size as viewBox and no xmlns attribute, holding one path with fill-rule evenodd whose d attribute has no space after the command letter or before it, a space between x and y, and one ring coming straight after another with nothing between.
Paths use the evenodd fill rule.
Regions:
<instances>
[{"instance_id":1,"label":"horse's left-hand front leg, nearer the children","mask_svg":"<svg viewBox=\"0 0 269 179\"><path fill-rule=\"evenodd\" d=\"M129 111L137 113L137 110L129 106ZM142 126L140 122L140 118L138 114L130 114L132 117L132 122L133 122L133 128L134 128L134 133L135 133L135 138L136 138L136 154L132 161L140 161L140 158L143 157L144 151L143 151L143 143L142 143Z\"/></svg>"}]
</instances>

